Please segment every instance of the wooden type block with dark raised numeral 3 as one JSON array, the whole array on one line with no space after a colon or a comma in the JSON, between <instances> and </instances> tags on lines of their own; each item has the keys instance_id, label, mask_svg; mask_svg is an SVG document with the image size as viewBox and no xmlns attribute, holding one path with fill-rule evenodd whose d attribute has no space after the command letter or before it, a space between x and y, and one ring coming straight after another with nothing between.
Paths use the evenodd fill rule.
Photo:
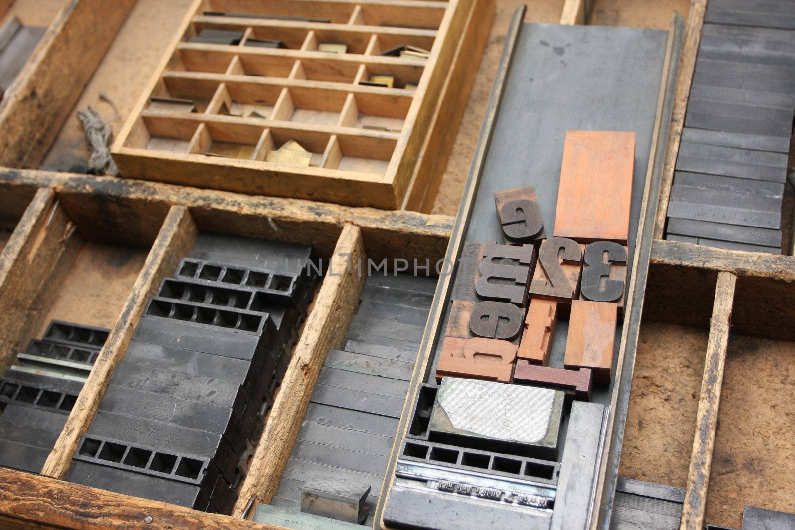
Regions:
<instances>
[{"instance_id":1,"label":"wooden type block with dark raised numeral 3","mask_svg":"<svg viewBox=\"0 0 795 530\"><path fill-rule=\"evenodd\" d=\"M626 290L626 246L598 241L585 247L580 298L595 302L616 302L624 308Z\"/></svg>"}]
</instances>

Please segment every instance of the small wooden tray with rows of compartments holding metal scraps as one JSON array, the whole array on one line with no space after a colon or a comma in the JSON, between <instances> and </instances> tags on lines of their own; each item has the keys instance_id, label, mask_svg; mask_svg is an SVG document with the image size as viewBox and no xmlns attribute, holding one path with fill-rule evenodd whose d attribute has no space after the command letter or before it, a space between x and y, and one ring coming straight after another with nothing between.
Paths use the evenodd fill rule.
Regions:
<instances>
[{"instance_id":1,"label":"small wooden tray with rows of compartments holding metal scraps","mask_svg":"<svg viewBox=\"0 0 795 530\"><path fill-rule=\"evenodd\" d=\"M426 136L444 130L444 91L468 91L493 14L491 0L194 7L115 141L121 175L390 209L429 185L414 175L437 156Z\"/></svg>"}]
</instances>

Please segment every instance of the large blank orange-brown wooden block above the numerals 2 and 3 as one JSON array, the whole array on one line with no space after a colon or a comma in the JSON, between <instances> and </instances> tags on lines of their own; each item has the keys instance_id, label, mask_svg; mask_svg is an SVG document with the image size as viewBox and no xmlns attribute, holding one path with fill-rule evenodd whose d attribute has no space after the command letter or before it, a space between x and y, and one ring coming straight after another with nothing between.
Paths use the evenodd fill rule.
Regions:
<instances>
[{"instance_id":1,"label":"large blank orange-brown wooden block above the numerals 2 and 3","mask_svg":"<svg viewBox=\"0 0 795 530\"><path fill-rule=\"evenodd\" d=\"M557 238L589 243L605 239L626 245L635 133L566 131L557 191Z\"/></svg>"}]
</instances>

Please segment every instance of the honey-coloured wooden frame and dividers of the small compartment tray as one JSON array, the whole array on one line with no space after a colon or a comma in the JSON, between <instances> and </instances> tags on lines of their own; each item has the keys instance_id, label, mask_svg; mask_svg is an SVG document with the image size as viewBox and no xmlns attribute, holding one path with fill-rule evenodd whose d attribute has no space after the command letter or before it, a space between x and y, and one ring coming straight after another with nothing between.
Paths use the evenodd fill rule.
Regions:
<instances>
[{"instance_id":1,"label":"honey-coloured wooden frame and dividers of the small compartment tray","mask_svg":"<svg viewBox=\"0 0 795 530\"><path fill-rule=\"evenodd\" d=\"M318 16L316 6L307 0L280 0L279 9L291 6L291 14L301 14L301 3L307 14ZM279 4L276 2L274 5ZM290 2L293 2L290 4ZM228 2L227 2L228 3ZM212 5L223 6L224 2ZM231 4L235 6L234 2ZM449 0L428 2L425 0L334 0L323 6L325 16L343 17L347 24L317 24L299 21L267 21L235 19L232 17L210 17L200 14L207 9L207 0L196 0L184 18L180 30L169 46L161 65L134 110L119 133L112 149L114 161L123 176L157 180L173 184L185 184L200 188L212 188L242 193L271 196L316 199L353 206L381 208L430 207L439 185L440 170L452 147L444 131L457 126L460 110L466 104L466 96L474 78L467 58L479 56L485 45L491 17L494 14L492 0ZM220 8L219 8L220 9ZM378 17L402 13L402 17L421 21L423 17L440 17L438 29L402 29L365 25L364 14L378 10ZM350 16L347 15L350 13ZM428 12L427 14L423 14ZM407 18L407 19L408 19ZM245 46L223 46L218 44L196 44L184 41L184 37L195 33L197 27L213 25L228 29L295 29L305 32L301 49L246 48ZM364 53L328 54L312 51L316 44L315 32L326 26L339 32L372 34ZM412 57L380 56L374 53L377 36L390 38L433 37L431 54L427 60ZM186 55L187 54L187 55ZM207 64L208 72L217 68L212 61L229 62L225 73L185 72L171 68L179 57L191 56L193 64ZM265 60L292 64L290 74L285 77L255 77L245 74L241 61ZM324 68L347 68L358 73L353 83L330 83L306 79L305 64L322 64ZM365 87L359 79L370 69L386 68L398 72L421 72L417 89ZM409 74L416 75L416 74ZM216 87L210 106L202 114L185 112L155 112L146 110L150 95L160 95L166 86L196 86L209 83ZM193 84L191 84L193 83ZM238 118L214 114L213 102L223 97L227 86L259 86L281 90L269 118ZM189 90L186 88L186 90ZM312 99L345 100L336 126L289 121L293 99L299 91L311 92ZM292 99L291 99L292 95ZM347 99L346 99L347 95ZM304 96L305 97L305 96ZM340 99L341 98L341 99ZM371 106L380 106L390 115L395 109L405 110L403 126L399 133L366 130L347 122L349 105L355 110L355 99L367 99ZM336 107L335 107L336 108ZM358 113L358 110L356 110ZM142 139L149 133L177 131L190 140L186 153L171 153L145 149ZM214 131L214 132L211 132ZM241 137L254 135L250 141L256 151L250 160L209 157L204 153L209 137ZM161 134L164 134L161 132ZM322 153L318 167L299 167L274 164L264 161L267 151L275 149L274 136L295 137L300 141L316 144L315 152ZM259 137L257 141L256 138ZM282 140L283 141L283 140ZM383 174L340 170L336 166L344 152L351 157L388 161ZM440 164L441 162L441 164Z\"/></svg>"}]
</instances>

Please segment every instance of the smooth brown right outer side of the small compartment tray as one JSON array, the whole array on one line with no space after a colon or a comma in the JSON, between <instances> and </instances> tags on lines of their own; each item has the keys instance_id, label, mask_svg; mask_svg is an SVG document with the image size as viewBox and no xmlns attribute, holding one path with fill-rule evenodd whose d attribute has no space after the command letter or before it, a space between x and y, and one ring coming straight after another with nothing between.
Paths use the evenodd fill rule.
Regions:
<instances>
[{"instance_id":1,"label":"smooth brown right outer side of the small compartment tray","mask_svg":"<svg viewBox=\"0 0 795 530\"><path fill-rule=\"evenodd\" d=\"M429 213L433 200L444 176L456 134L467 108L472 84L478 66L471 64L472 57L483 58L483 48L489 37L491 23L494 20L494 0L475 0L464 25L456 53L452 59L452 68L444 80L441 98L438 99L433 117L429 123L429 132L417 157L409 188L403 199L401 209L416 210Z\"/></svg>"}]
</instances>

